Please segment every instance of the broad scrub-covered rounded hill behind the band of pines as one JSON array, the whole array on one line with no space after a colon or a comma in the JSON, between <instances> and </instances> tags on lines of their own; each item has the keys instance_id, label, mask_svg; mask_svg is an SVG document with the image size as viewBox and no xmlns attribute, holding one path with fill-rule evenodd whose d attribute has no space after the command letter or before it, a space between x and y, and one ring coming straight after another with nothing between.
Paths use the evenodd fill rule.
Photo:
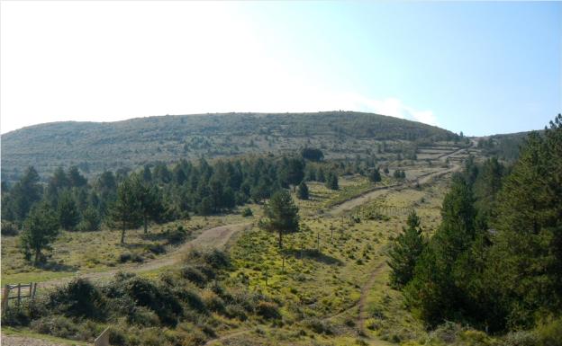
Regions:
<instances>
[{"instance_id":1,"label":"broad scrub-covered rounded hill behind the band of pines","mask_svg":"<svg viewBox=\"0 0 562 346\"><path fill-rule=\"evenodd\" d=\"M3 181L14 181L29 165L41 176L77 165L96 174L121 167L181 158L293 152L322 148L327 158L385 155L412 141L431 143L456 135L446 129L384 115L317 113L228 113L138 118L117 122L56 122L2 136ZM381 148L380 146L384 146Z\"/></svg>"}]
</instances>

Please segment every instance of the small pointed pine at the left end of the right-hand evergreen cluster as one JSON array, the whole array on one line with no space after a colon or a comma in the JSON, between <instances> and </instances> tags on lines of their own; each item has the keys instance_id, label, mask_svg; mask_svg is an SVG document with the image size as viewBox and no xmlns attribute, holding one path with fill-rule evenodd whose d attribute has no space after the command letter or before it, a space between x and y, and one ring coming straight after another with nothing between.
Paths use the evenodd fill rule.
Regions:
<instances>
[{"instance_id":1,"label":"small pointed pine at the left end of the right-hand evergreen cluster","mask_svg":"<svg viewBox=\"0 0 562 346\"><path fill-rule=\"evenodd\" d=\"M413 278L413 269L425 246L421 234L420 217L415 211L408 216L407 227L396 237L387 262L392 269L390 283L393 288L403 288Z\"/></svg>"}]
</instances>

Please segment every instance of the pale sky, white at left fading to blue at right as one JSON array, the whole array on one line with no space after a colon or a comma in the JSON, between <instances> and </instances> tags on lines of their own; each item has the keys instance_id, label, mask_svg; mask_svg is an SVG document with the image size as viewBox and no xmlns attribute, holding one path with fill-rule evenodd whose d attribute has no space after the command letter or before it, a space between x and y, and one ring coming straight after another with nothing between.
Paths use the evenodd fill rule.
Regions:
<instances>
[{"instance_id":1,"label":"pale sky, white at left fading to blue at right","mask_svg":"<svg viewBox=\"0 0 562 346\"><path fill-rule=\"evenodd\" d=\"M468 136L562 111L562 2L2 1L2 133L370 111Z\"/></svg>"}]
</instances>

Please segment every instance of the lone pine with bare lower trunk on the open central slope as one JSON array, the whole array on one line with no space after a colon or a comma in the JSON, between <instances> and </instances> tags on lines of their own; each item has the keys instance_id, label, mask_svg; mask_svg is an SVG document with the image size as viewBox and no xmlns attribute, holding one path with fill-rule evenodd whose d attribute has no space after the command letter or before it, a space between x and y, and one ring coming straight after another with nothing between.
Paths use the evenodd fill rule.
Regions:
<instances>
[{"instance_id":1,"label":"lone pine with bare lower trunk on the open central slope","mask_svg":"<svg viewBox=\"0 0 562 346\"><path fill-rule=\"evenodd\" d=\"M279 235L279 249L283 249L283 234L299 230L298 207L286 190L276 191L267 202L264 214L267 220L262 226Z\"/></svg>"}]
</instances>

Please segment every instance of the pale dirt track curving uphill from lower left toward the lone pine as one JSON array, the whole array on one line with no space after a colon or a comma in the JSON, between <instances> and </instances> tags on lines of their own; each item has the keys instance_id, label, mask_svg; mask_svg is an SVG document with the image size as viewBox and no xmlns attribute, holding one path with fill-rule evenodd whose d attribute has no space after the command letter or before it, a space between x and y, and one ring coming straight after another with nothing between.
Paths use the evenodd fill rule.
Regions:
<instances>
[{"instance_id":1,"label":"pale dirt track curving uphill from lower left toward the lone pine","mask_svg":"<svg viewBox=\"0 0 562 346\"><path fill-rule=\"evenodd\" d=\"M226 225L226 226L218 226L214 228L209 228L204 230L200 235L198 235L195 239L186 242L179 246L174 251L159 257L155 260L150 262L141 263L135 266L124 266L119 269L111 270L111 271L95 271L95 272L87 272L87 273L77 273L75 276L71 276L68 278L61 278L61 279L52 279L48 281L41 282L40 288L53 288L65 283L68 283L70 280L75 278L83 278L83 279L104 279L113 277L119 271L129 271L134 273L141 273L146 271L156 271L163 267L169 267L177 262L182 260L182 256L189 251L194 246L197 247L216 247L222 248L224 245L227 244L231 236L235 233L248 229L251 224L238 224L238 225Z\"/></svg>"}]
</instances>

